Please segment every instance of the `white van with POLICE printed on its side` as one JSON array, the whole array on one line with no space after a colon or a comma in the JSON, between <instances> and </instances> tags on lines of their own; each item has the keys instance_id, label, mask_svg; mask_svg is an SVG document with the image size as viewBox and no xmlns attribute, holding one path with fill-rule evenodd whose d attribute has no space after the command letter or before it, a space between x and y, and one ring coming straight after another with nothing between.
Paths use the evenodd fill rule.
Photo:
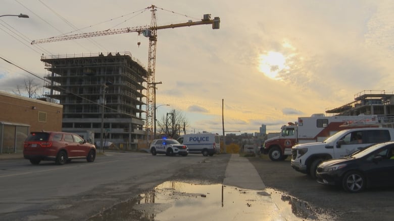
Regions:
<instances>
[{"instance_id":1,"label":"white van with POLICE printed on its side","mask_svg":"<svg viewBox=\"0 0 394 221\"><path fill-rule=\"evenodd\" d=\"M220 136L217 133L189 133L177 140L187 146L190 154L202 153L206 157L220 152Z\"/></svg>"}]
</instances>

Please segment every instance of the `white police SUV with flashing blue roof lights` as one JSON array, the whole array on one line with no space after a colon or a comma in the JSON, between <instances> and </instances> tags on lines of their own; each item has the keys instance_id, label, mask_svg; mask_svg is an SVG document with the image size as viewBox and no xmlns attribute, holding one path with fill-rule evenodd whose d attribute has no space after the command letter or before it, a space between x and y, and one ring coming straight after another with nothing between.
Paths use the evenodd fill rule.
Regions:
<instances>
[{"instance_id":1,"label":"white police SUV with flashing blue roof lights","mask_svg":"<svg viewBox=\"0 0 394 221\"><path fill-rule=\"evenodd\" d=\"M175 139L155 139L152 141L149 150L153 156L156 156L156 154L187 156L189 154L187 146L180 144Z\"/></svg>"}]
</instances>

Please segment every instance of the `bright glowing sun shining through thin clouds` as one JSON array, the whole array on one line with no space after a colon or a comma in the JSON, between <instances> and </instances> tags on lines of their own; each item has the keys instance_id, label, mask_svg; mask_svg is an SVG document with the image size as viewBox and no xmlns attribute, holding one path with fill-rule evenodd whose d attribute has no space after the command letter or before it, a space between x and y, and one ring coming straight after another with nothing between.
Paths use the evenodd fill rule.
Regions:
<instances>
[{"instance_id":1,"label":"bright glowing sun shining through thin clouds","mask_svg":"<svg viewBox=\"0 0 394 221\"><path fill-rule=\"evenodd\" d=\"M270 79L278 80L278 73L286 68L286 59L279 52L270 51L259 56L259 71Z\"/></svg>"}]
</instances>

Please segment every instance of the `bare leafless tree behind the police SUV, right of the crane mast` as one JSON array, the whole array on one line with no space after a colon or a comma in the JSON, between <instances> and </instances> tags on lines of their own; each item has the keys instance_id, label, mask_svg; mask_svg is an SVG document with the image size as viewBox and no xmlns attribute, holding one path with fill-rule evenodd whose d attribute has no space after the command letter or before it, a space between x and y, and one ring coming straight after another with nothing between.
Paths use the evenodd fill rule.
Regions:
<instances>
[{"instance_id":1,"label":"bare leafless tree behind the police SUV, right of the crane mast","mask_svg":"<svg viewBox=\"0 0 394 221\"><path fill-rule=\"evenodd\" d=\"M178 138L181 133L184 133L187 126L189 126L189 122L184 113L175 109L172 109L171 112L158 120L158 127L161 132L174 139Z\"/></svg>"}]
</instances>

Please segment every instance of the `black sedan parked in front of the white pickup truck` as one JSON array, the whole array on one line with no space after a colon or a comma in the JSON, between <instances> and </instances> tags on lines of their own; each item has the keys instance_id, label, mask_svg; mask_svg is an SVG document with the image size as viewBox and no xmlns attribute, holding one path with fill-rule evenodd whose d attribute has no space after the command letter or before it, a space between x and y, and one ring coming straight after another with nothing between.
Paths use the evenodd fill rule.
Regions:
<instances>
[{"instance_id":1,"label":"black sedan parked in front of the white pickup truck","mask_svg":"<svg viewBox=\"0 0 394 221\"><path fill-rule=\"evenodd\" d=\"M369 187L394 186L394 141L325 161L317 167L316 177L318 183L354 193Z\"/></svg>"}]
</instances>

